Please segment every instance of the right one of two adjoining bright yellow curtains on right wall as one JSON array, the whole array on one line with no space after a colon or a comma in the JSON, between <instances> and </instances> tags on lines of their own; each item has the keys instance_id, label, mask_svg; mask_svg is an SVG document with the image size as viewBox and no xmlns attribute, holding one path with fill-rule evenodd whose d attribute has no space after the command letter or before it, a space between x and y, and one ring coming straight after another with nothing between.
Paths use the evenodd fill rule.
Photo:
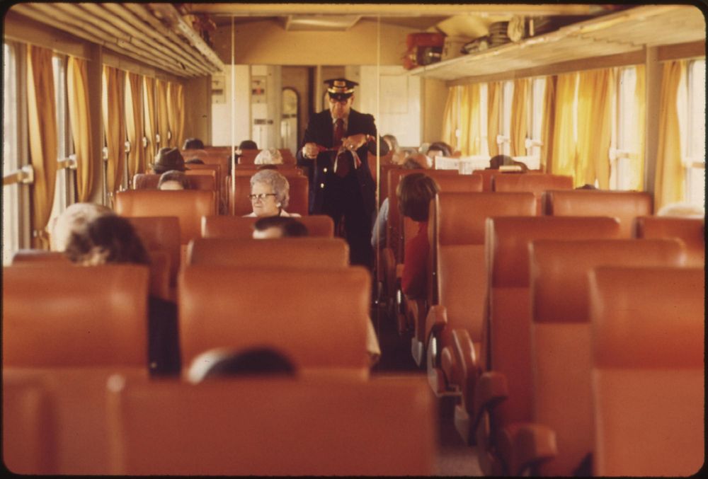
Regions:
<instances>
[{"instance_id":1,"label":"right one of two adjoining bright yellow curtains on right wall","mask_svg":"<svg viewBox=\"0 0 708 479\"><path fill-rule=\"evenodd\" d=\"M578 82L578 156L576 185L610 187L612 69L582 71Z\"/></svg>"}]
</instances>

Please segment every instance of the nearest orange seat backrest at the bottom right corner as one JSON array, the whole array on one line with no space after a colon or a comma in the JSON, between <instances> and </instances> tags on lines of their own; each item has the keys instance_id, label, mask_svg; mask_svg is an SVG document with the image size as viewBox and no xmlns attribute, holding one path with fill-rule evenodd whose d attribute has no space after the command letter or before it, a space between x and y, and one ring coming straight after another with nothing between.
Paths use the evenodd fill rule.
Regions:
<instances>
[{"instance_id":1,"label":"nearest orange seat backrest at the bottom right corner","mask_svg":"<svg viewBox=\"0 0 708 479\"><path fill-rule=\"evenodd\" d=\"M594 475L704 465L705 273L601 267L590 277Z\"/></svg>"}]
</instances>

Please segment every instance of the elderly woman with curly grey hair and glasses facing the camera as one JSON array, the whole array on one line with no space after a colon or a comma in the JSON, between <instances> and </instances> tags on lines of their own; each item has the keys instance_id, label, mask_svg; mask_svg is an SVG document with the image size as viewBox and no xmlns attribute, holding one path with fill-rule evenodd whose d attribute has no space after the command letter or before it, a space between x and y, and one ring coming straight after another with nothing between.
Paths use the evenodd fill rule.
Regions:
<instances>
[{"instance_id":1,"label":"elderly woman with curly grey hair and glasses facing the camera","mask_svg":"<svg viewBox=\"0 0 708 479\"><path fill-rule=\"evenodd\" d=\"M275 170L261 170L251 176L251 206L253 212L246 217L299 217L285 211L290 200L287 178Z\"/></svg>"}]
</instances>

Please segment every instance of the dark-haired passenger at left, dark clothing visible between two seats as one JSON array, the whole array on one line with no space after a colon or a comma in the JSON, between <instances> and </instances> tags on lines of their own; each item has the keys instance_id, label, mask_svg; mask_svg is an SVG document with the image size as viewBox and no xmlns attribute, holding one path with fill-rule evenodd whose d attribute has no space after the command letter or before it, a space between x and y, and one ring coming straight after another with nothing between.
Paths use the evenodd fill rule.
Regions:
<instances>
[{"instance_id":1,"label":"dark-haired passenger at left, dark clothing visible between two seats","mask_svg":"<svg viewBox=\"0 0 708 479\"><path fill-rule=\"evenodd\" d=\"M75 231L67 245L69 260L80 265L133 263L150 260L130 221L117 215L97 217ZM151 375L178 375L181 369L177 306L156 296L148 298L148 368Z\"/></svg>"}]
</instances>

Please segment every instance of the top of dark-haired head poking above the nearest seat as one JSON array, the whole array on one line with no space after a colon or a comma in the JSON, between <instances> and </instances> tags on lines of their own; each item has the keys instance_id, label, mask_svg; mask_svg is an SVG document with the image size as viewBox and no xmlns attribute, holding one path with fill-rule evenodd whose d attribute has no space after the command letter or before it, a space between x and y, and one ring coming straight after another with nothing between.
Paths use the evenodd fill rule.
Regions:
<instances>
[{"instance_id":1,"label":"top of dark-haired head poking above the nearest seat","mask_svg":"<svg viewBox=\"0 0 708 479\"><path fill-rule=\"evenodd\" d=\"M194 358L188 380L200 383L205 379L229 376L295 376L295 366L284 354L268 347L253 347L241 352L214 349Z\"/></svg>"}]
</instances>

